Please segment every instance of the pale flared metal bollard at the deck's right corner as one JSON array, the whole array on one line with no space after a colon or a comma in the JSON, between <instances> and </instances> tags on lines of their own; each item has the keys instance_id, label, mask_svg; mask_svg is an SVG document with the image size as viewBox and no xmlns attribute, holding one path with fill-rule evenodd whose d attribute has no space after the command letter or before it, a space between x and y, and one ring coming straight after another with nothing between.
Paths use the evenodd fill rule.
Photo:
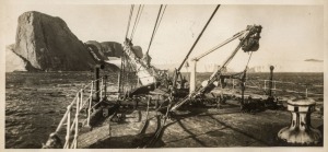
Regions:
<instances>
[{"instance_id":1,"label":"pale flared metal bollard at the deck's right corner","mask_svg":"<svg viewBox=\"0 0 328 152\"><path fill-rule=\"evenodd\" d=\"M278 137L288 143L317 144L323 136L318 129L311 126L311 114L315 110L316 102L303 97L288 101L288 110L292 114L289 127L281 129Z\"/></svg>"}]
</instances>

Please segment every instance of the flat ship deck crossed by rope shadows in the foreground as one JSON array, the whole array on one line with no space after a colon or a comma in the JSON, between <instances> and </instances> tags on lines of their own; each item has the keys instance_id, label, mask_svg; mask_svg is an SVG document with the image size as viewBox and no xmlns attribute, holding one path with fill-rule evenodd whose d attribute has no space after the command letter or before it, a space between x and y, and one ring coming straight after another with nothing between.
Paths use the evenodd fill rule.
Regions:
<instances>
[{"instance_id":1,"label":"flat ship deck crossed by rope shadows in the foreground","mask_svg":"<svg viewBox=\"0 0 328 152\"><path fill-rule=\"evenodd\" d=\"M140 106L144 106L141 104ZM127 113L120 124L106 119L92 131L81 133L80 149L129 149L140 148L155 132L160 119L151 112L147 130L141 129L145 110ZM227 101L221 108L188 107L178 110L166 120L163 133L154 148L225 148L225 147L284 147L278 132L290 125L291 114L286 110L242 113L236 101ZM312 114L312 126L323 133L324 119L319 113ZM324 133L323 133L324 135ZM317 144L319 147L323 143Z\"/></svg>"}]
</instances>

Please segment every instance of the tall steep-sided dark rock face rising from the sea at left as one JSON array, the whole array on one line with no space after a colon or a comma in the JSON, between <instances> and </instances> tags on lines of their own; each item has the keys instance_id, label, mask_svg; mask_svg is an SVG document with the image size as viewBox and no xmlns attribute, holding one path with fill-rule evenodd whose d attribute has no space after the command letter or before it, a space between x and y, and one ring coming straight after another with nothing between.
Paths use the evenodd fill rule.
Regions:
<instances>
[{"instance_id":1,"label":"tall steep-sided dark rock face rising from the sea at left","mask_svg":"<svg viewBox=\"0 0 328 152\"><path fill-rule=\"evenodd\" d=\"M65 21L34 11L19 17L14 52L39 70L83 71L95 65Z\"/></svg>"}]
</instances>

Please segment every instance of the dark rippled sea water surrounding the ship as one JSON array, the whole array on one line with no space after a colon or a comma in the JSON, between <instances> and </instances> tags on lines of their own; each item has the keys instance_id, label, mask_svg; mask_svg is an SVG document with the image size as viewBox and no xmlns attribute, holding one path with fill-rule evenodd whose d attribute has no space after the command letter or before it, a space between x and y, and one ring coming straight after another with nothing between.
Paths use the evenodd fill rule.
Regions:
<instances>
[{"instance_id":1,"label":"dark rippled sea water surrounding the ship","mask_svg":"<svg viewBox=\"0 0 328 152\"><path fill-rule=\"evenodd\" d=\"M115 85L117 73L108 74ZM187 74L185 74L188 78ZM197 82L211 73L199 73ZM11 72L5 73L5 149L39 149L56 130L66 107L77 91L94 78L92 72ZM262 85L269 73L249 73L248 79ZM280 85L284 90L324 93L324 73L274 73L274 80L293 82ZM278 85L278 84L277 84ZM278 93L277 93L278 94ZM323 102L320 95L314 95Z\"/></svg>"}]
</instances>

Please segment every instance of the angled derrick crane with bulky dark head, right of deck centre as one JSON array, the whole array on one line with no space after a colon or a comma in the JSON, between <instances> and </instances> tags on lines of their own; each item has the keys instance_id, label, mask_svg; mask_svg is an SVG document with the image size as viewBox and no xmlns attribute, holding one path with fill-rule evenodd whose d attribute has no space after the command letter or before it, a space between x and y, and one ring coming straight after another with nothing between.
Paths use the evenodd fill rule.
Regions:
<instances>
[{"instance_id":1,"label":"angled derrick crane with bulky dark head, right of deck centre","mask_svg":"<svg viewBox=\"0 0 328 152\"><path fill-rule=\"evenodd\" d=\"M183 104L187 103L190 100L204 97L204 94L210 93L215 86L218 86L220 81L222 81L226 78L239 79L242 81L242 83L241 83L242 92L244 95L244 90L245 90L244 82L246 80L247 66L246 66L245 70L239 73L224 74L223 71L224 71L224 69L226 69L226 66L229 65L229 62L234 58L234 56L237 54L237 51L241 48L245 52L250 52L250 54L253 51L258 50L261 28L262 27L260 25L248 25L245 31L242 31L242 32L235 34L233 37L226 39L222 44L220 44L220 45L213 47L212 49L206 51L204 54L194 58L191 73L190 73L189 94L186 97L184 97L181 101L174 104L174 106L171 108L171 112L176 110ZM197 61L236 38L239 38L241 42L237 45L237 47L234 49L234 51L229 56L229 58L226 58L226 60L222 63L222 66L216 71L214 71L214 73L208 80L206 80L202 83L201 86L196 89ZM242 100L242 106L243 106L243 100Z\"/></svg>"}]
</instances>

